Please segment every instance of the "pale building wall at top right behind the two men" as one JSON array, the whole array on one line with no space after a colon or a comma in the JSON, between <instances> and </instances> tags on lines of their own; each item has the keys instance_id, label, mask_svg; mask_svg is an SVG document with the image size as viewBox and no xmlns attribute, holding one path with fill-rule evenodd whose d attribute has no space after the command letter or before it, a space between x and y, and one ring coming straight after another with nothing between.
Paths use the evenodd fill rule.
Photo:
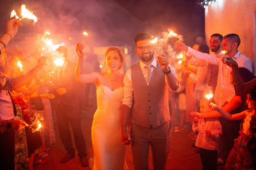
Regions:
<instances>
[{"instance_id":1,"label":"pale building wall at top right behind the two men","mask_svg":"<svg viewBox=\"0 0 256 170\"><path fill-rule=\"evenodd\" d=\"M255 0L218 0L205 8L205 37L211 34L238 34L238 50L254 63L254 11Z\"/></svg>"}]
</instances>

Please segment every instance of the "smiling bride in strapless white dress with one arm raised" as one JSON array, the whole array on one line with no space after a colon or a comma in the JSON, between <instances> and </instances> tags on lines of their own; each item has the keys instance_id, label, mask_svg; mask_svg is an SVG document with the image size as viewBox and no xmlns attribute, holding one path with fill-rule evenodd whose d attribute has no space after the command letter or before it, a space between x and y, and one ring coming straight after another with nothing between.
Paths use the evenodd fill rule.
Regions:
<instances>
[{"instance_id":1,"label":"smiling bride in strapless white dress with one arm raised","mask_svg":"<svg viewBox=\"0 0 256 170\"><path fill-rule=\"evenodd\" d=\"M119 48L110 47L105 54L107 71L82 74L82 60L86 52L82 42L76 44L79 60L75 79L80 83L94 82L97 90L97 110L92 121L91 137L94 148L94 170L128 169L125 162L125 146L121 136L121 105L123 98L123 74L125 57Z\"/></svg>"}]
</instances>

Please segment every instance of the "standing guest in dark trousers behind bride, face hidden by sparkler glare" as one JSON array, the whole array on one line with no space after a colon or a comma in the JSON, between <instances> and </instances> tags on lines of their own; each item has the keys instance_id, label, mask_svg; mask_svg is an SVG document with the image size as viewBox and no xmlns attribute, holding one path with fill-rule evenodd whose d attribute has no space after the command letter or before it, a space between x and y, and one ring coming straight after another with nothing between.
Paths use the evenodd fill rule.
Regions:
<instances>
[{"instance_id":1,"label":"standing guest in dark trousers behind bride, face hidden by sparkler glare","mask_svg":"<svg viewBox=\"0 0 256 170\"><path fill-rule=\"evenodd\" d=\"M87 160L86 142L81 128L81 85L75 81L75 64L68 61L68 49L60 46L56 50L57 58L55 64L57 70L52 80L51 92L55 94L52 100L52 110L56 111L57 125L61 141L67 151L66 155L60 160L65 163L75 157L69 122L72 127L75 145L81 164L86 167Z\"/></svg>"}]
</instances>

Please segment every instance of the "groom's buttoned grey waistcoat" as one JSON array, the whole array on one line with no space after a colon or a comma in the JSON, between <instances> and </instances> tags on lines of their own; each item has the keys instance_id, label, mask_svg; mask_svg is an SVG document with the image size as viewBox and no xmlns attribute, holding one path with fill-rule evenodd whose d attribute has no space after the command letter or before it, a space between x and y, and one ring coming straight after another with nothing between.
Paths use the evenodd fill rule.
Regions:
<instances>
[{"instance_id":1,"label":"groom's buttoned grey waistcoat","mask_svg":"<svg viewBox=\"0 0 256 170\"><path fill-rule=\"evenodd\" d=\"M153 70L149 85L139 64L131 67L131 82L134 88L131 123L147 128L156 128L170 120L168 86L161 66Z\"/></svg>"}]
</instances>

